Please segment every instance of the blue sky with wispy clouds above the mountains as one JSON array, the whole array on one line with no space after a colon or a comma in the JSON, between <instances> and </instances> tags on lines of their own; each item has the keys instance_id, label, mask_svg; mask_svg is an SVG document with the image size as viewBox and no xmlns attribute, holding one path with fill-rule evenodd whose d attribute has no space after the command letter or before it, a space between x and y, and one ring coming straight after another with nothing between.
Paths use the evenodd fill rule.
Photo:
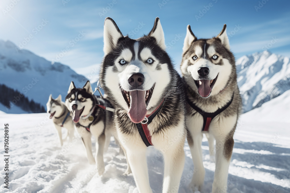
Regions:
<instances>
[{"instance_id":1,"label":"blue sky with wispy clouds above the mountains","mask_svg":"<svg viewBox=\"0 0 290 193\"><path fill-rule=\"evenodd\" d=\"M188 24L198 38L210 38L226 23L236 58L265 49L290 56L289 5L274 0L1 0L0 39L76 69L101 63L106 17L113 18L124 35L138 38L151 30L158 16L177 67Z\"/></svg>"}]
</instances>

